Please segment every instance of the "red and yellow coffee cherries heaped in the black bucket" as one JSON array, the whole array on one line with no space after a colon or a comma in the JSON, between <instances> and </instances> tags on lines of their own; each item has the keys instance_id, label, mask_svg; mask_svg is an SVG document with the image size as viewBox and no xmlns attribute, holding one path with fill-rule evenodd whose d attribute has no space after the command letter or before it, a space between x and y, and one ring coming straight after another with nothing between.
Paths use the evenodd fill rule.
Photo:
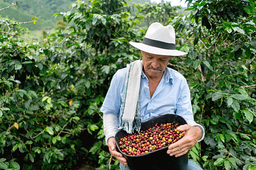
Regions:
<instances>
[{"instance_id":1,"label":"red and yellow coffee cherries heaped in the black bucket","mask_svg":"<svg viewBox=\"0 0 256 170\"><path fill-rule=\"evenodd\" d=\"M178 127L178 123L156 124L139 133L126 135L119 140L120 150L127 155L135 156L164 148L184 136L184 132L177 130Z\"/></svg>"}]
</instances>

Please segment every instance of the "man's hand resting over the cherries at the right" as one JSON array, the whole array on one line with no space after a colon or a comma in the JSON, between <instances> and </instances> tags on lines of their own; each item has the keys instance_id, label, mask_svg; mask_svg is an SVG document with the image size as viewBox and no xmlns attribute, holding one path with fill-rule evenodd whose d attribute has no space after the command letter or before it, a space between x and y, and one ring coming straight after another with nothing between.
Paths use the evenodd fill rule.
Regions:
<instances>
[{"instance_id":1,"label":"man's hand resting over the cherries at the right","mask_svg":"<svg viewBox=\"0 0 256 170\"><path fill-rule=\"evenodd\" d=\"M184 136L176 143L169 145L167 150L167 154L175 157L186 154L202 136L202 130L198 126L180 125L177 130L184 131Z\"/></svg>"}]
</instances>

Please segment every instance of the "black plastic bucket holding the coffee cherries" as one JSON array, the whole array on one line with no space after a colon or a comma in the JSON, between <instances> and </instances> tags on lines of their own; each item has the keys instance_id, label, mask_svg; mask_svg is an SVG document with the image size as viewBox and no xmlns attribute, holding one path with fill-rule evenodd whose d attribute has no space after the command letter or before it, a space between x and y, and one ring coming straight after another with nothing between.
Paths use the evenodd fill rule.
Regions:
<instances>
[{"instance_id":1,"label":"black plastic bucket holding the coffee cherries","mask_svg":"<svg viewBox=\"0 0 256 170\"><path fill-rule=\"evenodd\" d=\"M178 123L179 125L187 124L186 120L184 120L181 116L168 114L154 117L151 120L141 123L141 130L151 128L156 123L161 124L169 122ZM120 153L122 152L118 143L120 138L123 138L126 135L128 135L128 133L126 133L124 130L120 130L115 134L115 143ZM187 170L188 153L175 158L174 156L168 155L166 153L167 150L168 146L143 155L131 156L125 153L122 153L122 155L127 160L130 170L163 170L164 168L167 170Z\"/></svg>"}]
</instances>

